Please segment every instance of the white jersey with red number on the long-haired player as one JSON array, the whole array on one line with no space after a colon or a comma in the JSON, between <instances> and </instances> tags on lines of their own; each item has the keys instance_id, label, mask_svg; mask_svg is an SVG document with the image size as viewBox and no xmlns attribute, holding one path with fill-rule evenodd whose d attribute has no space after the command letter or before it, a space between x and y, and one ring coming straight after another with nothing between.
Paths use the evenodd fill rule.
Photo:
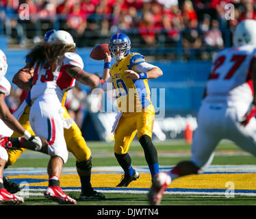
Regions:
<instances>
[{"instance_id":1,"label":"white jersey with red number on the long-haired player","mask_svg":"<svg viewBox=\"0 0 256 219\"><path fill-rule=\"evenodd\" d=\"M47 62L34 65L31 100L34 101L38 96L42 96L42 94L57 94L61 102L66 90L75 86L75 79L66 73L65 68L66 66L77 66L83 69L83 60L77 53L65 53L60 63L54 72Z\"/></svg>"}]
</instances>

